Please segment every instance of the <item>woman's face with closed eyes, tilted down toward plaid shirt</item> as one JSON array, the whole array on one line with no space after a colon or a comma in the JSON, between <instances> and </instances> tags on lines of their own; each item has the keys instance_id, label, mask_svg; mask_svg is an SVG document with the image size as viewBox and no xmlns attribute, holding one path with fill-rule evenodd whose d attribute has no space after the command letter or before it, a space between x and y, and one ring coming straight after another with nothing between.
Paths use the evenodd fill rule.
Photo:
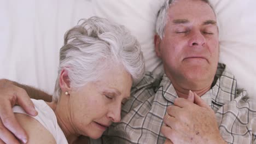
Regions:
<instances>
[{"instance_id":1,"label":"woman's face with closed eyes, tilted down toward plaid shirt","mask_svg":"<svg viewBox=\"0 0 256 144\"><path fill-rule=\"evenodd\" d=\"M74 131L97 139L112 122L119 122L121 103L130 97L131 86L131 75L118 67L104 70L100 80L72 91L68 111Z\"/></svg>"}]
</instances>

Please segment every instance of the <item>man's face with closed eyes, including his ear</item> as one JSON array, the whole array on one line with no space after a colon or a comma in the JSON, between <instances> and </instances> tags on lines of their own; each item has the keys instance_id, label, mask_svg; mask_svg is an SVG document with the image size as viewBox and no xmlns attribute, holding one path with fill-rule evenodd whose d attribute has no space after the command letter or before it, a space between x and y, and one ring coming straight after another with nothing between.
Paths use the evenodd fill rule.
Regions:
<instances>
[{"instance_id":1,"label":"man's face with closed eyes, including his ear","mask_svg":"<svg viewBox=\"0 0 256 144\"><path fill-rule=\"evenodd\" d=\"M177 0L171 4L164 37L156 38L155 44L172 81L213 80L219 58L218 28L207 3Z\"/></svg>"}]
</instances>

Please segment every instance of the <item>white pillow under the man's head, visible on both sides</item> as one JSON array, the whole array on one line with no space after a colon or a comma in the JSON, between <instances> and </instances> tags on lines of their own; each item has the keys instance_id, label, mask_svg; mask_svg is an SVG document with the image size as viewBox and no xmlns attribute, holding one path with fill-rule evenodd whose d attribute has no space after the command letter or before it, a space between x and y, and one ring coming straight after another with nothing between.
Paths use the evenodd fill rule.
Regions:
<instances>
[{"instance_id":1,"label":"white pillow under the man's head, visible on both sides","mask_svg":"<svg viewBox=\"0 0 256 144\"><path fill-rule=\"evenodd\" d=\"M94 0L94 13L129 28L141 42L146 69L159 68L153 38L156 13L161 1ZM228 65L238 86L256 95L256 1L210 0L216 9L220 26L220 62ZM159 71L159 70L158 70ZM158 71L156 73L158 73ZM254 96L256 97L256 96Z\"/></svg>"}]
</instances>

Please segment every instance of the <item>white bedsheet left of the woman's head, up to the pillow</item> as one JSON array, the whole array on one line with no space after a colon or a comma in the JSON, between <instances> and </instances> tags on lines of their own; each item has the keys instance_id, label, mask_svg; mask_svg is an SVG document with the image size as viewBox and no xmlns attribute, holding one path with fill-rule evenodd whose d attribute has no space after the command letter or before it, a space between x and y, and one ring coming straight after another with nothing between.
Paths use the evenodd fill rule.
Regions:
<instances>
[{"instance_id":1,"label":"white bedsheet left of the woman's head, up to the pillow","mask_svg":"<svg viewBox=\"0 0 256 144\"><path fill-rule=\"evenodd\" d=\"M0 0L0 78L52 93L63 35L90 16L85 0Z\"/></svg>"}]
</instances>

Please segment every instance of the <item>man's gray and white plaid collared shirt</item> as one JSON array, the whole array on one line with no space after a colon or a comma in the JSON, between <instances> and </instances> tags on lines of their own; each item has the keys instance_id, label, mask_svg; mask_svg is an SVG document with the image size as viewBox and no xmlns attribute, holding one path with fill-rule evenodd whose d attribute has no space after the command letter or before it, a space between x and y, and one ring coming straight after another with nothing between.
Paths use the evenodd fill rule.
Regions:
<instances>
[{"instance_id":1,"label":"man's gray and white plaid collared shirt","mask_svg":"<svg viewBox=\"0 0 256 144\"><path fill-rule=\"evenodd\" d=\"M132 89L123 106L119 123L113 124L100 140L92 143L164 143L160 128L166 108L177 93L166 75L161 79L147 73ZM246 91L239 91L234 75L218 65L212 88L201 97L216 113L219 131L228 143L256 143L256 103Z\"/></svg>"}]
</instances>

